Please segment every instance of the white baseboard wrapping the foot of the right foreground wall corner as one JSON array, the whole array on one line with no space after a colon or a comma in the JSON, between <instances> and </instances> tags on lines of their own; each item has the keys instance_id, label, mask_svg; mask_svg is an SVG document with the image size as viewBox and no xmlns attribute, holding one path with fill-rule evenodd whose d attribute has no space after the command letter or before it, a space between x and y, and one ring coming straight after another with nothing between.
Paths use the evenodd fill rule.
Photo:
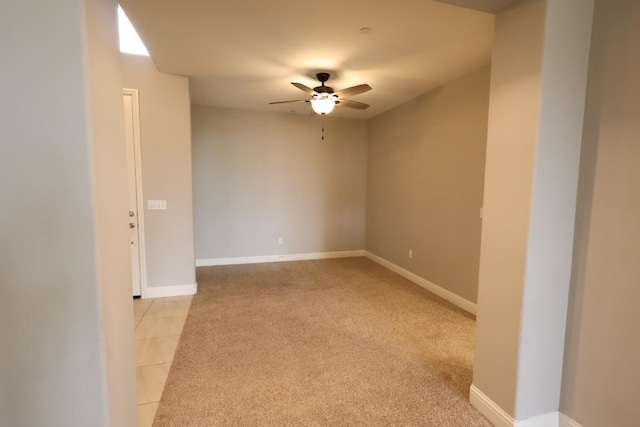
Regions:
<instances>
[{"instance_id":1,"label":"white baseboard wrapping the foot of the right foreground wall corner","mask_svg":"<svg viewBox=\"0 0 640 427\"><path fill-rule=\"evenodd\" d=\"M473 384L469 392L469 402L495 427L582 427L567 415L557 411L516 421Z\"/></svg>"}]
</instances>

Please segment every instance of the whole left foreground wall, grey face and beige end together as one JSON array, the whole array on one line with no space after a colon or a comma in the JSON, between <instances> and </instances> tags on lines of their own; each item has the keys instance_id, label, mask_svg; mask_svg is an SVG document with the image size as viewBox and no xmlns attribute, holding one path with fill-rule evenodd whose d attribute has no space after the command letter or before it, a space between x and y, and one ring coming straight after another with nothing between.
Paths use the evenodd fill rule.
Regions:
<instances>
[{"instance_id":1,"label":"whole left foreground wall, grey face and beige end together","mask_svg":"<svg viewBox=\"0 0 640 427\"><path fill-rule=\"evenodd\" d=\"M136 423L115 11L0 5L3 426Z\"/></svg>"}]
</instances>

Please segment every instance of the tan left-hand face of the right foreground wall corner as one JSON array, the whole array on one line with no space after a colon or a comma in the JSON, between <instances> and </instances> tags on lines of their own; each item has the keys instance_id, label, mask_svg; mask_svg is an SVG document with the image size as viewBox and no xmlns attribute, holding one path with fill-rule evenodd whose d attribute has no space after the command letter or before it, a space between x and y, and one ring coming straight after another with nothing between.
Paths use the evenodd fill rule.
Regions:
<instances>
[{"instance_id":1,"label":"tan left-hand face of the right foreground wall corner","mask_svg":"<svg viewBox=\"0 0 640 427\"><path fill-rule=\"evenodd\" d=\"M473 384L515 413L546 1L496 16Z\"/></svg>"}]
</instances>

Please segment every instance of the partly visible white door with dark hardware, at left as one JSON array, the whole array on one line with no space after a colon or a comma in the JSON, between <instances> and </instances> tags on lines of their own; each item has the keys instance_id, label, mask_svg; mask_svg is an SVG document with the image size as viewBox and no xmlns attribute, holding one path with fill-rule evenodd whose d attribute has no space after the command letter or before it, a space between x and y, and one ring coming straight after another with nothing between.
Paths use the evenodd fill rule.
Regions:
<instances>
[{"instance_id":1,"label":"partly visible white door with dark hardware, at left","mask_svg":"<svg viewBox=\"0 0 640 427\"><path fill-rule=\"evenodd\" d=\"M124 123L127 143L127 182L129 187L129 240L133 296L142 296L144 283L144 230L142 222L142 185L140 173L140 138L138 92L124 89Z\"/></svg>"}]
</instances>

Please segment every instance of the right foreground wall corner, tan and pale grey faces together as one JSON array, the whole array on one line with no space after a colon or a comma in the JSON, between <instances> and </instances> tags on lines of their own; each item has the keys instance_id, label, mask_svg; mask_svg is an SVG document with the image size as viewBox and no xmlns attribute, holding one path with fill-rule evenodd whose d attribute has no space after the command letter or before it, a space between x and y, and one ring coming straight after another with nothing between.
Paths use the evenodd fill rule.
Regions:
<instances>
[{"instance_id":1,"label":"right foreground wall corner, tan and pale grey faces together","mask_svg":"<svg viewBox=\"0 0 640 427\"><path fill-rule=\"evenodd\" d=\"M471 401L516 420L560 405L592 12L522 0L496 16Z\"/></svg>"}]
</instances>

